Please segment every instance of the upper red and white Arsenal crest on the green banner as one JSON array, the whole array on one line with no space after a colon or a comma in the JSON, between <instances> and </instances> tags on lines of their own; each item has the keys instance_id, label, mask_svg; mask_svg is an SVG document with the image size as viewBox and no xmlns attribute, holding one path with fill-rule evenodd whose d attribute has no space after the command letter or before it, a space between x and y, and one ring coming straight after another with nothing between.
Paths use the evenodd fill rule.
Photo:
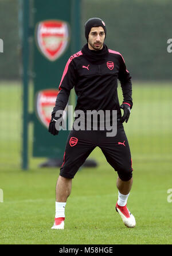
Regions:
<instances>
[{"instance_id":1,"label":"upper red and white Arsenal crest on the green banner","mask_svg":"<svg viewBox=\"0 0 172 256\"><path fill-rule=\"evenodd\" d=\"M50 61L56 61L66 50L69 43L67 22L46 20L38 23L36 42L39 50Z\"/></svg>"}]
</instances>

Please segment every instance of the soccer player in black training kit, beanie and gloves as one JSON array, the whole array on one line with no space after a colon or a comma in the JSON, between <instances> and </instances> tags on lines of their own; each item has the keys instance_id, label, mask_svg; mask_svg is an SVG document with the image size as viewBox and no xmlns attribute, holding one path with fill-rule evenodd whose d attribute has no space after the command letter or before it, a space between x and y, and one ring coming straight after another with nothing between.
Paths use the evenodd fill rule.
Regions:
<instances>
[{"instance_id":1,"label":"soccer player in black training kit, beanie and gloves","mask_svg":"<svg viewBox=\"0 0 172 256\"><path fill-rule=\"evenodd\" d=\"M71 194L72 179L96 146L100 147L108 163L118 173L116 211L128 228L133 228L136 224L127 208L127 198L132 187L132 161L123 128L123 122L127 123L132 108L131 76L122 55L104 44L106 35L105 23L100 18L91 18L85 23L87 44L81 51L73 54L65 66L49 132L58 134L56 122L60 117L56 116L56 111L65 109L70 91L74 87L77 95L75 111L117 111L117 134L108 137L106 130L93 130L92 125L91 130L71 130L56 185L56 215L52 229L64 229L65 206ZM118 79L123 92L121 106L117 92ZM123 115L121 109L124 111Z\"/></svg>"}]
</instances>

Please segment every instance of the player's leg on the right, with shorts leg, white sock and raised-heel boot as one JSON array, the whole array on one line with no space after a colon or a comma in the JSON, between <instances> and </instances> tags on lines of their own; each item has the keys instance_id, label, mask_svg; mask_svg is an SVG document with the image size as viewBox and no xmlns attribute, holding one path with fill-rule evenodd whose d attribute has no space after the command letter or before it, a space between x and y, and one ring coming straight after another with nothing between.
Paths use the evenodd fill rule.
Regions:
<instances>
[{"instance_id":1,"label":"player's leg on the right, with shorts leg, white sock and raised-heel boot","mask_svg":"<svg viewBox=\"0 0 172 256\"><path fill-rule=\"evenodd\" d=\"M127 209L127 199L132 187L132 160L123 127L118 128L118 133L115 137L102 138L100 148L108 163L118 172L116 182L118 202L116 203L116 210L127 227L135 227L135 218Z\"/></svg>"}]
</instances>

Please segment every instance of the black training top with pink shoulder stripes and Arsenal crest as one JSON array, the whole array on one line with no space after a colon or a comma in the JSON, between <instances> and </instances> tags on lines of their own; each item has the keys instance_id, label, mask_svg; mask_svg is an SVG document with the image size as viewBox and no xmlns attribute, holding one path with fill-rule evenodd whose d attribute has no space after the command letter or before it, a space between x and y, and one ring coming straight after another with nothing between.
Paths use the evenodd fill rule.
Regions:
<instances>
[{"instance_id":1,"label":"black training top with pink shoulder stripes and Arsenal crest","mask_svg":"<svg viewBox=\"0 0 172 256\"><path fill-rule=\"evenodd\" d=\"M77 95L75 110L117 110L120 118L118 80L122 86L123 103L132 108L131 76L122 55L109 50L105 44L103 50L97 52L89 50L86 44L69 58L65 66L52 116L57 110L65 109L74 87Z\"/></svg>"}]
</instances>

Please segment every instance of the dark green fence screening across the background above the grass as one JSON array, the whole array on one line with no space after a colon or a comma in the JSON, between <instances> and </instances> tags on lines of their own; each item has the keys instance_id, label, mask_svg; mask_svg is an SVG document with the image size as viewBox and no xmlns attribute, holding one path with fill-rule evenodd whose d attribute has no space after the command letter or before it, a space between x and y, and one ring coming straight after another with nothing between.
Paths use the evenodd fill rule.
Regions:
<instances>
[{"instance_id":1,"label":"dark green fence screening across the background above the grass","mask_svg":"<svg viewBox=\"0 0 172 256\"><path fill-rule=\"evenodd\" d=\"M134 80L171 80L171 55L167 52L167 40L171 38L170 0L81 0L80 3L81 18L73 27L78 29L80 25L82 44L84 22L90 17L101 17L107 24L106 43L122 52ZM65 1L63 4L68 6ZM0 38L5 42L0 77L19 78L18 0L1 0L0 6L3 21Z\"/></svg>"}]
</instances>

